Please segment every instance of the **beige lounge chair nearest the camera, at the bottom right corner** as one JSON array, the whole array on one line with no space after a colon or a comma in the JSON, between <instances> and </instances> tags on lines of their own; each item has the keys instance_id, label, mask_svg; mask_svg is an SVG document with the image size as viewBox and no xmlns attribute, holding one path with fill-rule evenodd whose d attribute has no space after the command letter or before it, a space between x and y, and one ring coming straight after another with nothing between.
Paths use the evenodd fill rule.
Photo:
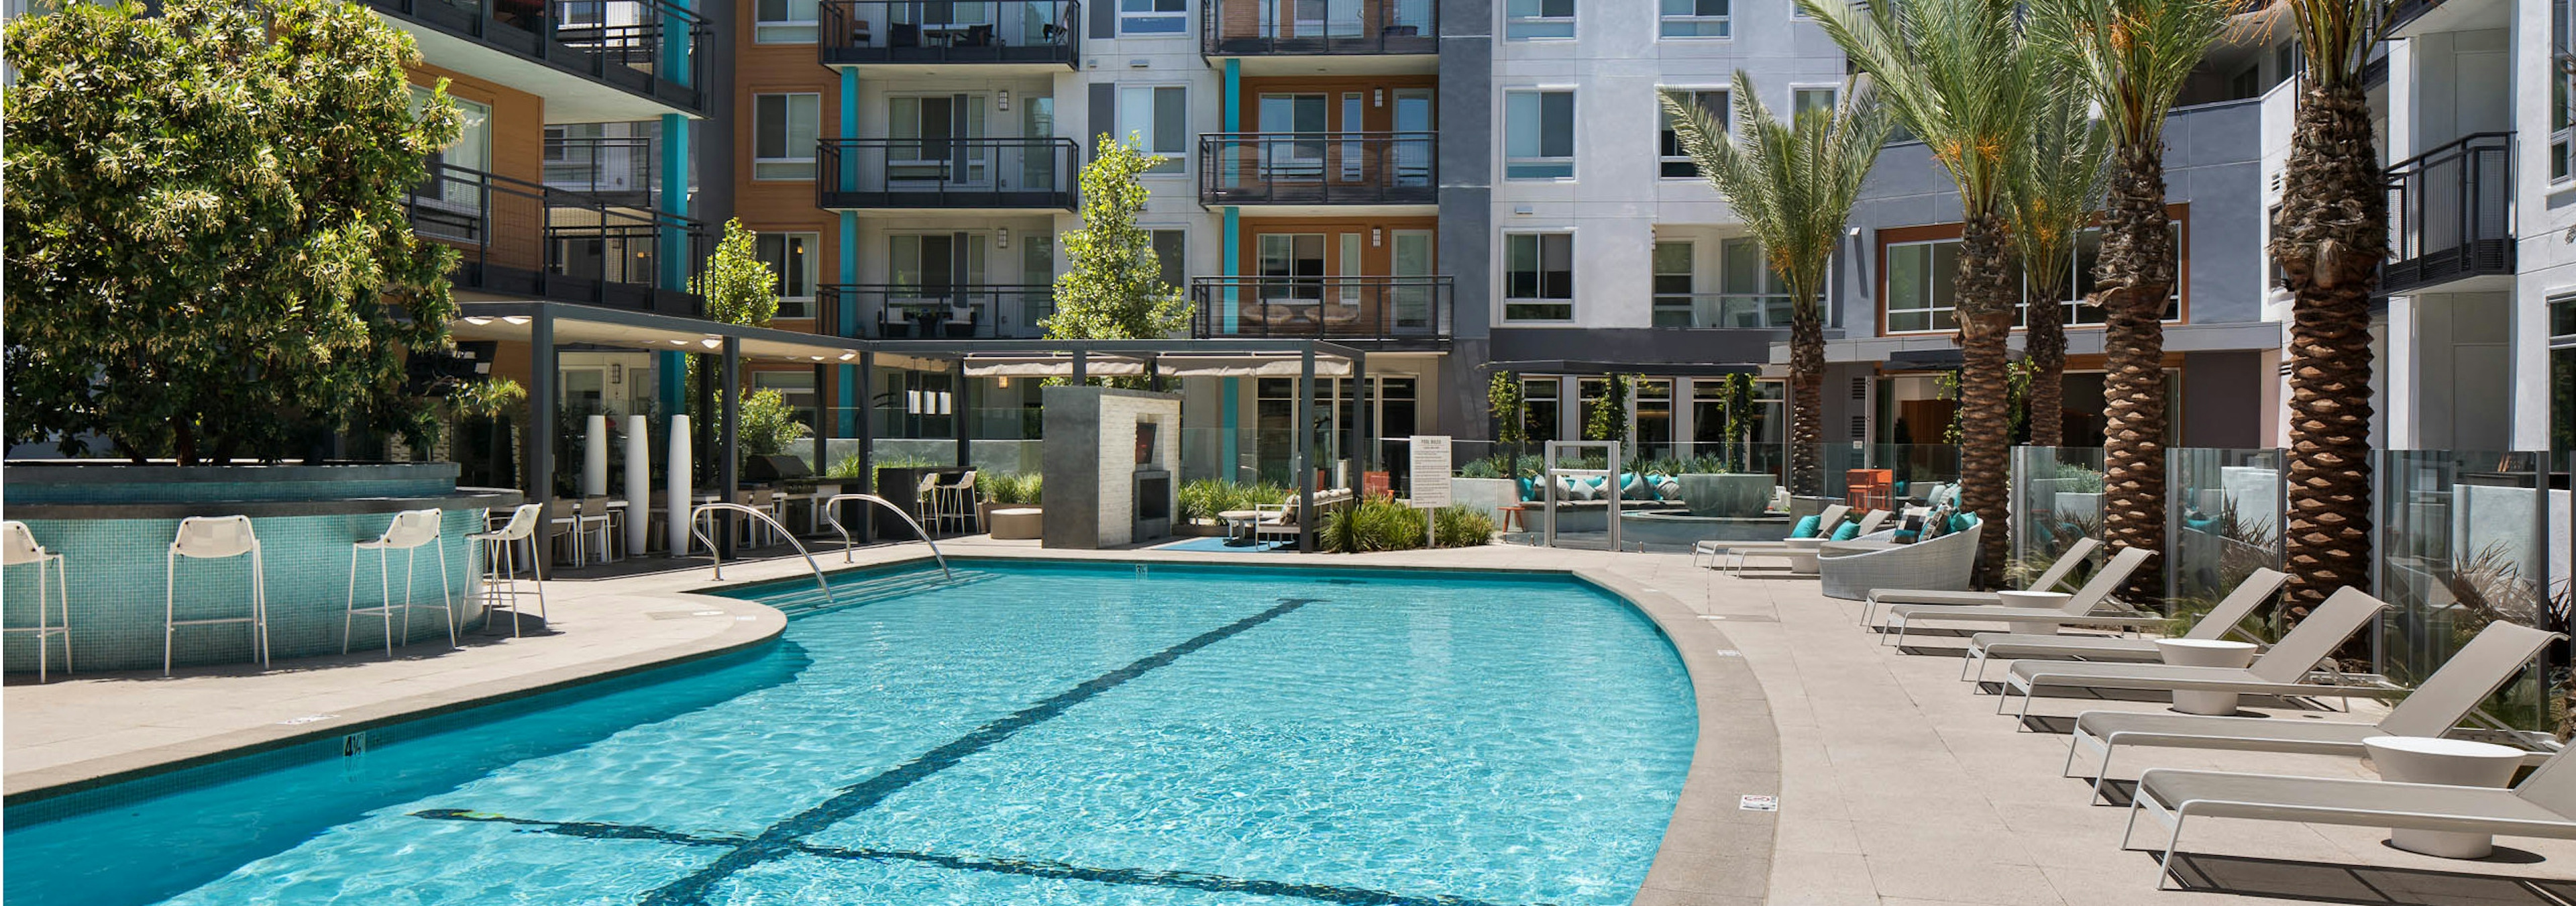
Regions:
<instances>
[{"instance_id":1,"label":"beige lounge chair nearest the camera, at the bottom right corner","mask_svg":"<svg viewBox=\"0 0 2576 906\"><path fill-rule=\"evenodd\" d=\"M2391 826L2409 831L2576 839L2576 757L2553 754L2514 788L2450 788L2434 782L2233 775L2215 770L2151 770L2138 777L2120 849L2138 816L2169 829L2156 860L2156 891L2174 875L2184 818L2303 821Z\"/></svg>"}]
</instances>

